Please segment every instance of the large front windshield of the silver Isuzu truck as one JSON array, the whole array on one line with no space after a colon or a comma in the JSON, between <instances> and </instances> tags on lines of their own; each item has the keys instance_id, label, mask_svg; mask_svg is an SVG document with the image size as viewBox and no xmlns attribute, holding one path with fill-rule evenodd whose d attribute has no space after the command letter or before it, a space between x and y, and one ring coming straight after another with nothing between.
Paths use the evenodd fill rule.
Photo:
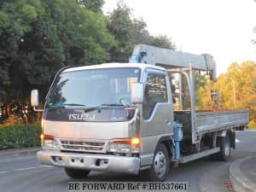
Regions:
<instances>
[{"instance_id":1,"label":"large front windshield of the silver Isuzu truck","mask_svg":"<svg viewBox=\"0 0 256 192\"><path fill-rule=\"evenodd\" d=\"M137 82L140 69L100 68L61 73L49 90L45 108L120 105L131 102L131 84Z\"/></svg>"}]
</instances>

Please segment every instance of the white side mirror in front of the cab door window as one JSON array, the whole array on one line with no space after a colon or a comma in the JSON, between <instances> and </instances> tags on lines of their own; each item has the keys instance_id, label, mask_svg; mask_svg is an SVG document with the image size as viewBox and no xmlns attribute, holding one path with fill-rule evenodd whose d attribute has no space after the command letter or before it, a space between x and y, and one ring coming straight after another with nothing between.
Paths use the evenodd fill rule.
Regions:
<instances>
[{"instance_id":1,"label":"white side mirror in front of the cab door window","mask_svg":"<svg viewBox=\"0 0 256 192\"><path fill-rule=\"evenodd\" d=\"M131 102L143 103L144 85L142 83L131 84Z\"/></svg>"}]
</instances>

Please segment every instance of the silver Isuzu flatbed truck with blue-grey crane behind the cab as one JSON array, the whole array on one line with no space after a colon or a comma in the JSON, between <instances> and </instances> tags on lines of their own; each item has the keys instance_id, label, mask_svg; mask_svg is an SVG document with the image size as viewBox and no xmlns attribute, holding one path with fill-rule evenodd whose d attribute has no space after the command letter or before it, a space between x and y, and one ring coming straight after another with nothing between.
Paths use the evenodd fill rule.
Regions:
<instances>
[{"instance_id":1,"label":"silver Isuzu flatbed truck with blue-grey crane behind the cab","mask_svg":"<svg viewBox=\"0 0 256 192\"><path fill-rule=\"evenodd\" d=\"M198 71L216 79L212 55L146 44L135 46L128 63L62 68L44 109L36 108L38 90L31 93L34 110L43 111L38 160L72 178L100 171L150 181L164 181L170 166L202 157L229 160L248 110L196 110ZM178 89L172 89L174 81Z\"/></svg>"}]
</instances>

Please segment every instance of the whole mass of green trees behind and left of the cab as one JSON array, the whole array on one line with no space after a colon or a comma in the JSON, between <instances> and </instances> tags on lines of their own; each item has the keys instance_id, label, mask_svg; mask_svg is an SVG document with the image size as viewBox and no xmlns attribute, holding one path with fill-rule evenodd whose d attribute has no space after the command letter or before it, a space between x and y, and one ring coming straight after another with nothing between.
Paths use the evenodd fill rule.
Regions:
<instances>
[{"instance_id":1,"label":"whole mass of green trees behind and left of the cab","mask_svg":"<svg viewBox=\"0 0 256 192\"><path fill-rule=\"evenodd\" d=\"M3 0L0 3L0 102L45 96L61 67L128 61L134 44L174 48L153 37L119 1L105 16L104 0Z\"/></svg>"}]
</instances>

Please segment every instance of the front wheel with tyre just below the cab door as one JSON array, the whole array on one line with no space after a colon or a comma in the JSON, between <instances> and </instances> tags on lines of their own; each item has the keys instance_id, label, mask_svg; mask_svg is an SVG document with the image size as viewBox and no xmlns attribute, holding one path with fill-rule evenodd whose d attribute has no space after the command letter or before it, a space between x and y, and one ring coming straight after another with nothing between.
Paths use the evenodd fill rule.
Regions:
<instances>
[{"instance_id":1,"label":"front wheel with tyre just below the cab door","mask_svg":"<svg viewBox=\"0 0 256 192\"><path fill-rule=\"evenodd\" d=\"M169 154L164 144L160 144L154 153L153 164L143 171L143 177L150 181L164 181L169 173Z\"/></svg>"}]
</instances>

